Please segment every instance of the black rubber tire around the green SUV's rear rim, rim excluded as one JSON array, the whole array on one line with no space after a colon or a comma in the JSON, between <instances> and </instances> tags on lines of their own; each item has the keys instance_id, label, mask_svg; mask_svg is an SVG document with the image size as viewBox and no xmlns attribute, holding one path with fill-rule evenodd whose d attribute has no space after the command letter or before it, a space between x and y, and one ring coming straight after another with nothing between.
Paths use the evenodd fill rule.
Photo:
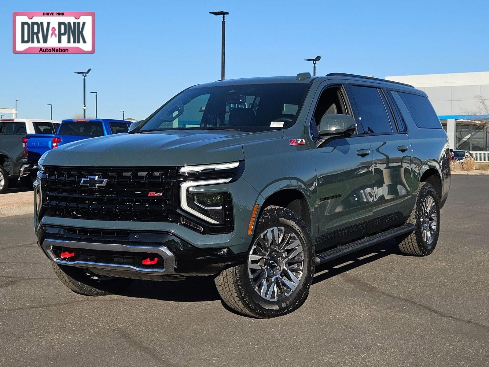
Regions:
<instances>
[{"instance_id":1,"label":"black rubber tire around the green SUV's rear rim, rim excluded","mask_svg":"<svg viewBox=\"0 0 489 367\"><path fill-rule=\"evenodd\" d=\"M431 196L434 200L437 215L436 231L433 235L433 241L428 245L422 237L422 204L427 196ZM440 234L440 199L435 188L427 182L421 182L416 191L416 198L413 211L407 221L415 226L415 230L407 236L398 237L398 246L400 252L406 255L427 256L435 250L438 236Z\"/></svg>"}]
</instances>

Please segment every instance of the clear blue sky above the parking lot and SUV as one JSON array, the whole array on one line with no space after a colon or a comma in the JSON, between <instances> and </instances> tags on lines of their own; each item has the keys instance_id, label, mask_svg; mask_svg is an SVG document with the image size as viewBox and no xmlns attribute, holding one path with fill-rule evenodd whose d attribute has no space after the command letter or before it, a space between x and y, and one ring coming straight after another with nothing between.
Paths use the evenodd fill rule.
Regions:
<instances>
[{"instance_id":1,"label":"clear blue sky above the parking lot and SUV","mask_svg":"<svg viewBox=\"0 0 489 367\"><path fill-rule=\"evenodd\" d=\"M40 4L45 4L41 6ZM0 107L61 120L81 112L82 77L99 117L142 119L180 90L226 79L295 75L322 55L332 71L406 75L487 71L487 1L11 1L0 11ZM12 53L12 12L94 11L95 53ZM88 94L87 113L94 114ZM5 115L7 117L7 115Z\"/></svg>"}]
</instances>

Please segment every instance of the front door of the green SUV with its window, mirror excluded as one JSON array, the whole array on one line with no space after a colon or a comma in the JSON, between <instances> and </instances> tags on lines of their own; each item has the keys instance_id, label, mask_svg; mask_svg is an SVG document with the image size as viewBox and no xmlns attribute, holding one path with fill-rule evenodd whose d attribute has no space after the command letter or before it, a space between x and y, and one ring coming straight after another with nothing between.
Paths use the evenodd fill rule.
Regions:
<instances>
[{"instance_id":1,"label":"front door of the green SUV with its window, mirror excluded","mask_svg":"<svg viewBox=\"0 0 489 367\"><path fill-rule=\"evenodd\" d=\"M352 115L342 85L328 86L317 101L311 120L316 144L311 148L316 167L318 242L356 231L357 224L372 217L373 176L370 140L357 133L350 137L319 138L317 125L325 114ZM319 249L321 246L319 245Z\"/></svg>"}]
</instances>

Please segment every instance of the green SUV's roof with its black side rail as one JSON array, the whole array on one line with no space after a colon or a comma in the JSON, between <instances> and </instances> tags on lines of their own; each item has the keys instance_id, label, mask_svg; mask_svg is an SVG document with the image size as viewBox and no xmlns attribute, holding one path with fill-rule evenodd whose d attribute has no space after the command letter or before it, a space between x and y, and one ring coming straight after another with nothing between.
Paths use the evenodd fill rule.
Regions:
<instances>
[{"instance_id":1,"label":"green SUV's roof with its black side rail","mask_svg":"<svg viewBox=\"0 0 489 367\"><path fill-rule=\"evenodd\" d=\"M411 89L411 90L416 90L412 85L409 84L404 84L400 82L395 82L392 80L386 80L386 79L379 79L379 78L374 78L371 76L364 76L364 75L356 75L356 74L346 74L346 73L341 73L341 72L332 72L329 73L325 76L309 76L309 77L304 77L304 75L307 75L308 73L301 73L298 74L297 77L295 76L267 76L267 77L257 77L257 78L243 78L243 79L226 79L226 80L218 80L215 82L211 83L205 83L205 84L200 84L200 86L206 86L206 87L213 87L213 86L222 86L222 85L241 85L241 84L282 84L282 83L301 83L301 84L308 84L312 83L313 81L317 79L322 80L328 80L328 79L348 79L352 81L370 81L370 82L377 82L377 83L382 83L385 85L390 85L390 86L396 86L396 87L402 87ZM299 75L301 77L299 78ZM310 75L310 74L309 74ZM197 86L195 86L197 87ZM420 92L420 91L418 91Z\"/></svg>"}]
</instances>

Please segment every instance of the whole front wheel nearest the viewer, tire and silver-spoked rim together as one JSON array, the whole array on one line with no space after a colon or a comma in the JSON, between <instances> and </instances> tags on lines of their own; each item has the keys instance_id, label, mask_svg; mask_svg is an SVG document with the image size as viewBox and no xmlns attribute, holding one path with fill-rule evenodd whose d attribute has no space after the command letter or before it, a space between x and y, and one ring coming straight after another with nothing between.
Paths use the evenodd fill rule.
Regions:
<instances>
[{"instance_id":1,"label":"whole front wheel nearest the viewer, tire and silver-spoked rim together","mask_svg":"<svg viewBox=\"0 0 489 367\"><path fill-rule=\"evenodd\" d=\"M235 311L256 318L286 315L306 299L314 275L314 246L294 212L269 206L260 215L247 261L223 270L216 286Z\"/></svg>"}]
</instances>

